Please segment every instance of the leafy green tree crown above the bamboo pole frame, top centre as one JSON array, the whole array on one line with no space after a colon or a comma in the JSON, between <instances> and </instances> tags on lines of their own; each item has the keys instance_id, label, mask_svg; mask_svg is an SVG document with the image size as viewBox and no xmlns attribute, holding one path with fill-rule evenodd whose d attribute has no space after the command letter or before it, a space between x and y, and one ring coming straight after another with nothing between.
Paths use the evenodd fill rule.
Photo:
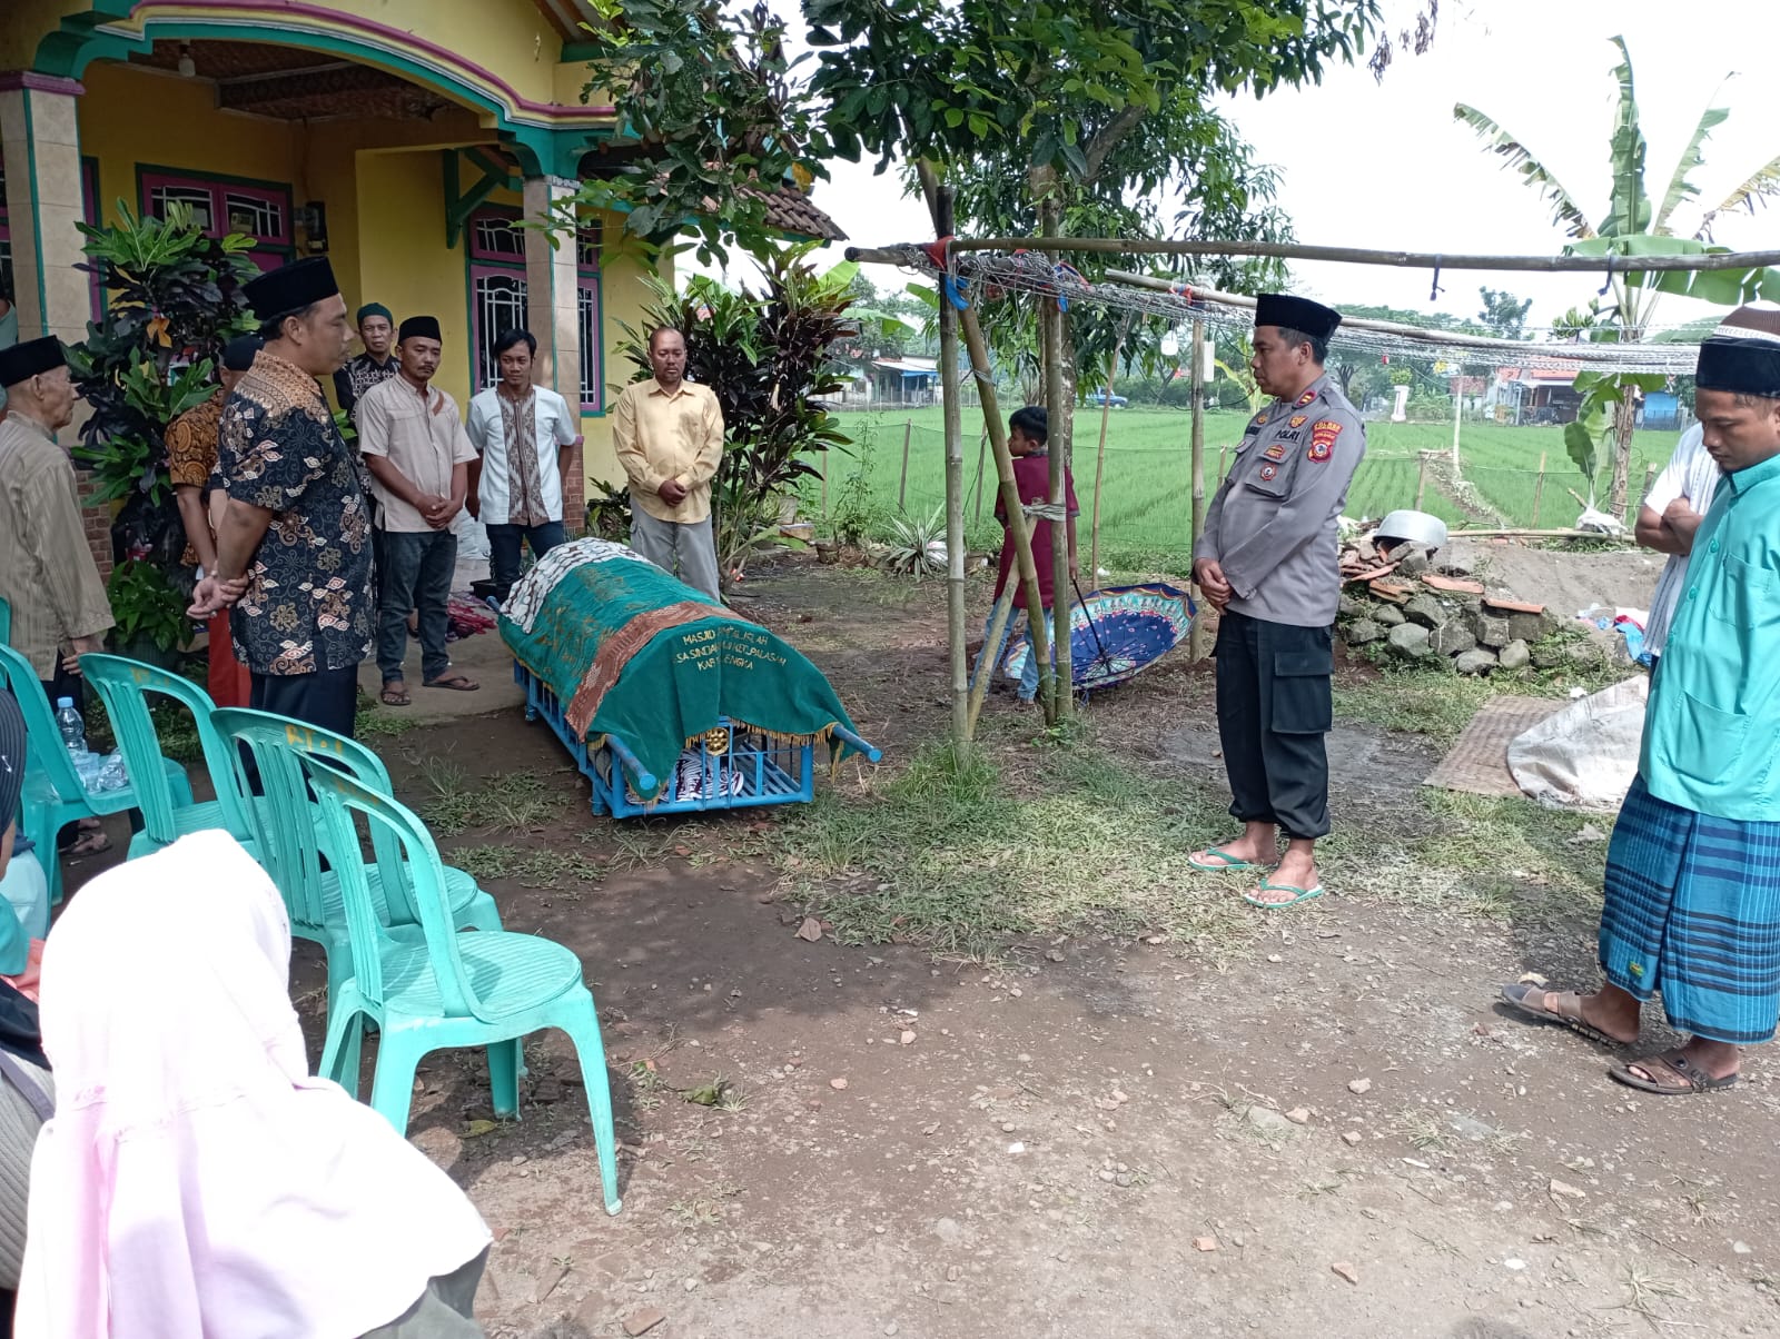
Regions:
<instances>
[{"instance_id":1,"label":"leafy green tree crown above the bamboo pole frame, top centre","mask_svg":"<svg viewBox=\"0 0 1780 1339\"><path fill-rule=\"evenodd\" d=\"M878 0L805 0L805 16L835 151L934 164L956 187L958 226L990 235L1289 237L1271 173L1210 101L1315 78L1378 30L1371 0L911 0L894 23ZM1283 274L1266 262L1203 272L1237 288ZM1031 312L993 322L1004 363L1041 347ZM1068 319L1064 347L1098 385L1121 321ZM1123 347L1143 358L1159 337ZM1072 392L1077 358L1064 356ZM1068 454L1066 418L1052 445Z\"/></svg>"}]
</instances>

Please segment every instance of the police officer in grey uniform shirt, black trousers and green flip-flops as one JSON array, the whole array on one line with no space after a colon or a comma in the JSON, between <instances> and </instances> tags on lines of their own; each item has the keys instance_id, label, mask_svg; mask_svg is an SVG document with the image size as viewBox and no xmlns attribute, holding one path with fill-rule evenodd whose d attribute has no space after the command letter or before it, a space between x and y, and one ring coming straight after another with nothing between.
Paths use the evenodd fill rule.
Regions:
<instances>
[{"instance_id":1,"label":"police officer in grey uniform shirt, black trousers and green flip-flops","mask_svg":"<svg viewBox=\"0 0 1780 1339\"><path fill-rule=\"evenodd\" d=\"M1193 577L1221 613L1218 734L1242 835L1191 864L1260 871L1246 896L1267 908L1323 892L1315 840L1330 830L1335 525L1365 456L1360 415L1323 372L1339 324L1339 312L1305 297L1257 301L1250 369L1274 399L1242 433L1193 552Z\"/></svg>"}]
</instances>

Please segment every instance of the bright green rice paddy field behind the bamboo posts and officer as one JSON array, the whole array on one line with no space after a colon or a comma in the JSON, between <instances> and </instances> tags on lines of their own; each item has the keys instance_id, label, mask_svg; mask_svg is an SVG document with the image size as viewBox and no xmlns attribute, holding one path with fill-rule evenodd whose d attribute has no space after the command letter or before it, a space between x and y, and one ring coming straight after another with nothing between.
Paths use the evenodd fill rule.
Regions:
<instances>
[{"instance_id":1,"label":"bright green rice paddy field behind the bamboo posts and officer","mask_svg":"<svg viewBox=\"0 0 1780 1339\"><path fill-rule=\"evenodd\" d=\"M854 440L853 454L828 461L828 515L863 513L865 532L892 538L897 516L926 522L945 500L945 438L942 411L886 410L844 413L842 429ZM1216 491L1219 461L1241 440L1248 422L1241 413L1210 413L1205 420L1205 493ZM1415 506L1420 450L1449 452L1452 424L1371 422L1367 456L1347 495L1349 516L1381 516ZM1095 454L1100 410L1075 417L1075 491L1086 518L1093 515ZM904 475L904 442L908 467ZM1641 495L1648 467L1661 468L1675 445L1673 433L1638 433L1632 438L1632 486ZM1465 500L1445 488L1442 472L1429 470L1422 509L1451 525L1570 525L1581 507L1566 490L1588 495L1563 445L1561 427L1513 427L1465 422L1460 429L1463 481L1476 490ZM1545 467L1543 486L1540 467ZM1606 499L1609 472L1597 490ZM822 488L806 488L805 515L822 515ZM1467 506L1468 502L1468 506ZM1000 543L993 518L995 465L983 447L983 417L965 410L965 522L972 548ZM1105 468L1100 497L1102 564L1123 568L1184 568L1193 515L1191 415L1185 410L1114 410L1107 424Z\"/></svg>"}]
</instances>

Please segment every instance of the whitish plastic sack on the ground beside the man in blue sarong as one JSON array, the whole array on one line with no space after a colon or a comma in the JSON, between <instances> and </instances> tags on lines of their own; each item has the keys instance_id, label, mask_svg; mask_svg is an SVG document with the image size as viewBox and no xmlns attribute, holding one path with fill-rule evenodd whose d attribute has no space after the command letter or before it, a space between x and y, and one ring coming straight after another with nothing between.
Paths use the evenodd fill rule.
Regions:
<instances>
[{"instance_id":1,"label":"whitish plastic sack on the ground beside the man in blue sarong","mask_svg":"<svg viewBox=\"0 0 1780 1339\"><path fill-rule=\"evenodd\" d=\"M1650 680L1572 702L1508 744L1515 785L1541 805L1616 810L1638 775Z\"/></svg>"}]
</instances>

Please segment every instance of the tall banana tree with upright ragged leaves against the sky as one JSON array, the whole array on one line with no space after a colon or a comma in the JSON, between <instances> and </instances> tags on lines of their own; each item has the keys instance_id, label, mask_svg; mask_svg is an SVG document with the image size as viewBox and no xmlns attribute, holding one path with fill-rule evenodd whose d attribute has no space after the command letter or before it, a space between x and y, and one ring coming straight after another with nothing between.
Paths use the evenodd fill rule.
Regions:
<instances>
[{"instance_id":1,"label":"tall banana tree with upright ragged leaves against the sky","mask_svg":"<svg viewBox=\"0 0 1780 1339\"><path fill-rule=\"evenodd\" d=\"M1725 107L1707 107L1687 139L1680 158L1670 173L1668 187L1659 201L1654 201L1645 189L1645 157L1648 144L1638 114L1638 96L1632 80L1632 55L1623 37L1613 37L1620 52L1620 62L1613 68L1620 96L1613 119L1613 137L1609 139L1609 162L1613 180L1609 183L1607 212L1598 223L1590 223L1582 208L1581 196L1558 180L1543 162L1533 157L1525 142L1504 130L1493 118L1470 107L1456 103L1454 119L1468 125L1479 139L1504 158L1508 167L1520 173L1520 178L1552 205L1552 223L1559 224L1570 239L1565 251L1581 256L1602 256L1607 269L1607 287L1611 306L1602 306L1604 324L1590 329L1591 340L1639 340L1650 328L1661 294L1680 294L1721 306L1734 306L1753 297L1780 301L1780 271L1639 271L1630 264L1639 256L1686 256L1721 253L1728 248L1712 244L1712 223L1719 214L1739 208L1753 208L1757 201L1780 194L1780 157L1771 158L1755 169L1737 187L1718 201L1712 208L1698 215L1691 233L1680 233L1677 214L1682 207L1691 207L1700 198L1700 187L1693 174L1705 164L1705 141L1712 130L1730 116ZM1607 404L1616 406L1611 429L1602 427L1602 443L1611 431L1613 436L1613 484L1609 491L1609 509L1613 515L1625 515L1625 493L1629 488L1632 454L1632 395L1639 377L1627 374L1593 383L1597 408L1591 415L1604 422ZM1577 452L1572 450L1572 456Z\"/></svg>"}]
</instances>

